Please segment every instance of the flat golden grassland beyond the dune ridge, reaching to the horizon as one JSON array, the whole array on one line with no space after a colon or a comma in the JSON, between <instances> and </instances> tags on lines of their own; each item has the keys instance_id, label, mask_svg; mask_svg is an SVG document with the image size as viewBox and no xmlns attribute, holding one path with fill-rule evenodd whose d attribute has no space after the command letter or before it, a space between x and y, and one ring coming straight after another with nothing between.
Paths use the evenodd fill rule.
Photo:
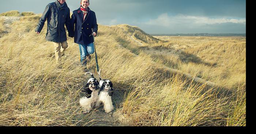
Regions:
<instances>
[{"instance_id":1,"label":"flat golden grassland beyond the dune ridge, reaching to the horizon","mask_svg":"<svg viewBox=\"0 0 256 134\"><path fill-rule=\"evenodd\" d=\"M157 37L166 42L134 45L155 62L226 88L246 77L246 39L241 37Z\"/></svg>"}]
</instances>

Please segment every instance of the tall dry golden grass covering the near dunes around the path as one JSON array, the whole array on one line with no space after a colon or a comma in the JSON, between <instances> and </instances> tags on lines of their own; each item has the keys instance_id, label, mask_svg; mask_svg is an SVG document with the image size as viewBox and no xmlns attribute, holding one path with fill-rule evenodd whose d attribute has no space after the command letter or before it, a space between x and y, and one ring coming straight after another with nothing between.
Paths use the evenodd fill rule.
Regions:
<instances>
[{"instance_id":1,"label":"tall dry golden grass covering the near dunes around the path","mask_svg":"<svg viewBox=\"0 0 256 134\"><path fill-rule=\"evenodd\" d=\"M39 18L22 17L12 24L14 30L0 38L0 125L84 126L92 120L91 114L79 118L79 92L87 78L79 66L78 45L68 38L69 47L57 65L53 45L45 41L46 24L40 35L34 32ZM127 27L99 25L95 45L102 77L112 80L114 89L127 90L123 114L133 125L246 125L245 85L231 96L217 97L215 88L170 75L161 65L152 64L150 54L138 50L140 41L140 48L163 41L143 35L138 28L127 32L131 26ZM89 64L94 61L93 55Z\"/></svg>"}]
</instances>

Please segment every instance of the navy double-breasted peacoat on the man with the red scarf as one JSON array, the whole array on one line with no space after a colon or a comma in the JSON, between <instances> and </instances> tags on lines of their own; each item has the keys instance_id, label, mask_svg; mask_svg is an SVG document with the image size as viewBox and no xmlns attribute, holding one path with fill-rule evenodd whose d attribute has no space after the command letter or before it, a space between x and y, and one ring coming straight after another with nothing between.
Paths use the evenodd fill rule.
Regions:
<instances>
[{"instance_id":1,"label":"navy double-breasted peacoat on the man with the red scarf","mask_svg":"<svg viewBox=\"0 0 256 134\"><path fill-rule=\"evenodd\" d=\"M75 25L75 26L74 26ZM92 30L93 29L93 30ZM73 11L70 21L68 36L74 37L74 42L82 45L88 45L93 42L93 32L98 31L98 24L95 12L89 8L86 18L83 20L81 9Z\"/></svg>"}]
</instances>

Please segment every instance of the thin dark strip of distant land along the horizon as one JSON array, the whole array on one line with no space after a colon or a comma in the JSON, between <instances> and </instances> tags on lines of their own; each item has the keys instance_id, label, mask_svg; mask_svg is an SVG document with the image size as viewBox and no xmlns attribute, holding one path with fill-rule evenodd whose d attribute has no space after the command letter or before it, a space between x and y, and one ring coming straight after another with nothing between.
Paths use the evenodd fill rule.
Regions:
<instances>
[{"instance_id":1,"label":"thin dark strip of distant land along the horizon","mask_svg":"<svg viewBox=\"0 0 256 134\"><path fill-rule=\"evenodd\" d=\"M208 33L199 33L199 34L150 34L151 36L242 36L246 37L246 34L208 34Z\"/></svg>"}]
</instances>

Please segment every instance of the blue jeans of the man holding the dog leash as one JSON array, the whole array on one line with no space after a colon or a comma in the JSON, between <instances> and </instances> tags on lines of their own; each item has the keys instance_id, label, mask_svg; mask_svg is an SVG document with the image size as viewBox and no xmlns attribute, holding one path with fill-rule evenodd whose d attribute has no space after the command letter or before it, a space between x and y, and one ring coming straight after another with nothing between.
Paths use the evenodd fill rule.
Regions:
<instances>
[{"instance_id":1,"label":"blue jeans of the man holding the dog leash","mask_svg":"<svg viewBox=\"0 0 256 134\"><path fill-rule=\"evenodd\" d=\"M90 54L94 53L94 45L93 43L87 44L87 45L79 45L79 50L80 50L80 58L81 58L81 63L83 66L86 66L87 61L86 61L86 56L89 56Z\"/></svg>"}]
</instances>

